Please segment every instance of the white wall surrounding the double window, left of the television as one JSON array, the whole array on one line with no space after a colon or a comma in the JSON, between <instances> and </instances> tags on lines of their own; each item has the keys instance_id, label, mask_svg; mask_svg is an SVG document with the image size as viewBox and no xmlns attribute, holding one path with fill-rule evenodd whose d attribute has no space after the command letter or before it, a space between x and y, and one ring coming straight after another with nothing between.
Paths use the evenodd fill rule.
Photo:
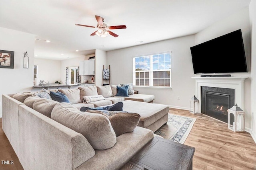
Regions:
<instances>
[{"instance_id":1,"label":"white wall surrounding the double window, left of the television","mask_svg":"<svg viewBox=\"0 0 256 170\"><path fill-rule=\"evenodd\" d=\"M107 62L110 65L111 84L132 83L132 58L172 51L172 89L141 88L139 94L152 94L154 103L166 104L170 107L189 109L189 100L195 92L195 82L192 80L193 66L190 47L195 45L195 36L190 35L145 45L107 52ZM177 100L180 96L180 100Z\"/></svg>"}]
</instances>

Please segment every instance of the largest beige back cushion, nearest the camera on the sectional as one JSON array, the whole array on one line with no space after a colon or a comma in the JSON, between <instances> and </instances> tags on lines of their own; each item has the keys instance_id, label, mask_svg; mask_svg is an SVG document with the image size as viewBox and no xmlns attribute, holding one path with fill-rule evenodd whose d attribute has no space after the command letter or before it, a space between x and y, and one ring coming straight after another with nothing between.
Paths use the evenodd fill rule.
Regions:
<instances>
[{"instance_id":1,"label":"largest beige back cushion, nearest the camera on the sectional","mask_svg":"<svg viewBox=\"0 0 256 170\"><path fill-rule=\"evenodd\" d=\"M71 104L58 103L52 109L51 118L84 135L93 149L109 149L116 143L114 129L104 115L81 112Z\"/></svg>"}]
</instances>

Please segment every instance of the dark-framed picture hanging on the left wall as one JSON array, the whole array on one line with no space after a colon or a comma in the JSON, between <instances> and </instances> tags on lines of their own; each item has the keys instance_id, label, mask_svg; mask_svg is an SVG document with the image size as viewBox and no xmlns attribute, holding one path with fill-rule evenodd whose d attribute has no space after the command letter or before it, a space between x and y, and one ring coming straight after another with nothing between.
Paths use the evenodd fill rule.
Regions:
<instances>
[{"instance_id":1,"label":"dark-framed picture hanging on the left wall","mask_svg":"<svg viewBox=\"0 0 256 170\"><path fill-rule=\"evenodd\" d=\"M13 68L14 51L0 50L0 68Z\"/></svg>"}]
</instances>

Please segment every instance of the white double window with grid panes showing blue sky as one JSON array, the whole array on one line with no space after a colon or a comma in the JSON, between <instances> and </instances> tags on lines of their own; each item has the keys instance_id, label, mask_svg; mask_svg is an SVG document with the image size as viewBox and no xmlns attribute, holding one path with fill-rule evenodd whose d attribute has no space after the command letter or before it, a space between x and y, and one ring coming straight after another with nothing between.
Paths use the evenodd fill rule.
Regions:
<instances>
[{"instance_id":1,"label":"white double window with grid panes showing blue sky","mask_svg":"<svg viewBox=\"0 0 256 170\"><path fill-rule=\"evenodd\" d=\"M171 52L133 58L135 86L171 86Z\"/></svg>"}]
</instances>

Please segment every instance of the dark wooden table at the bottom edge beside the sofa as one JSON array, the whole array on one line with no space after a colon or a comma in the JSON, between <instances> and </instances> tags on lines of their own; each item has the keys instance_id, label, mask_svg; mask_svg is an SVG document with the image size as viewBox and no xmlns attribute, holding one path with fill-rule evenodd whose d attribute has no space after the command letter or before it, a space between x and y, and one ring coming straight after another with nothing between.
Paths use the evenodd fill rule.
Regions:
<instances>
[{"instance_id":1,"label":"dark wooden table at the bottom edge beside the sofa","mask_svg":"<svg viewBox=\"0 0 256 170\"><path fill-rule=\"evenodd\" d=\"M192 170L194 147L154 137L121 170Z\"/></svg>"}]
</instances>

